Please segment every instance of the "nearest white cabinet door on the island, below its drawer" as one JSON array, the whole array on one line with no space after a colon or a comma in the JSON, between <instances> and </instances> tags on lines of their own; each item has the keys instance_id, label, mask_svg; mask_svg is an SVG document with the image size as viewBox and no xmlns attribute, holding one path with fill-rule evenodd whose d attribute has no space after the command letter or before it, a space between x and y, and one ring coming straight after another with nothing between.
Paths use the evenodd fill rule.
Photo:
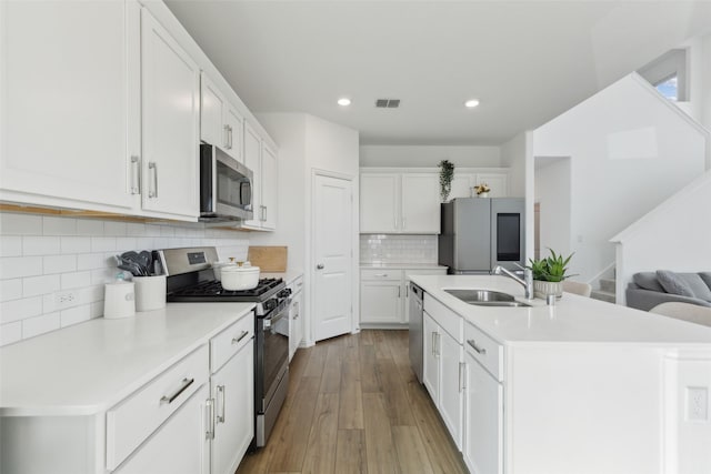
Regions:
<instances>
[{"instance_id":1,"label":"nearest white cabinet door on the island, below its drawer","mask_svg":"<svg viewBox=\"0 0 711 474\"><path fill-rule=\"evenodd\" d=\"M471 473L503 473L503 385L467 350L464 443Z\"/></svg>"}]
</instances>

